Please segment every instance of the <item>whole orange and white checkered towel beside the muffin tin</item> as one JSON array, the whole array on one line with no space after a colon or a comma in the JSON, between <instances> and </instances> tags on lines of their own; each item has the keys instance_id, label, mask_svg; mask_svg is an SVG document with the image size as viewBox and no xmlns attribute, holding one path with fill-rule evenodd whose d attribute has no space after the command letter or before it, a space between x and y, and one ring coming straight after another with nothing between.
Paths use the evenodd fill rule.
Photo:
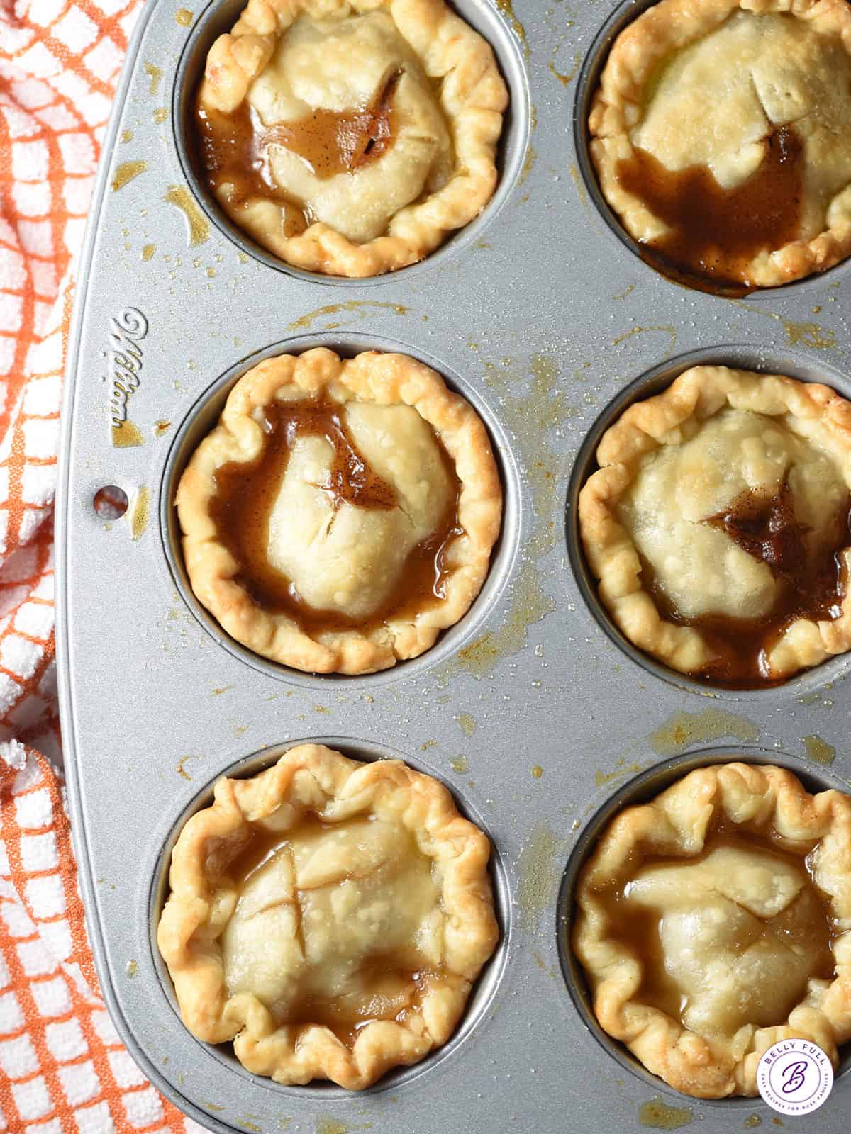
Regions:
<instances>
[{"instance_id":1,"label":"whole orange and white checkered towel beside the muffin tin","mask_svg":"<svg viewBox=\"0 0 851 1134\"><path fill-rule=\"evenodd\" d=\"M200 1132L100 998L60 779L52 506L65 346L140 0L0 0L0 1131ZM49 759L50 758L50 759Z\"/></svg>"}]
</instances>

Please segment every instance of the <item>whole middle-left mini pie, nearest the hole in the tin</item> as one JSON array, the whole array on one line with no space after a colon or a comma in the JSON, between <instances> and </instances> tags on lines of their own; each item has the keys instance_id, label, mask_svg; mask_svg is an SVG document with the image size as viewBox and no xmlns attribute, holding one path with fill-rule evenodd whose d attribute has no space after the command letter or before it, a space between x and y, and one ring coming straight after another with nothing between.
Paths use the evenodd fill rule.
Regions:
<instances>
[{"instance_id":1,"label":"whole middle-left mini pie, nearest the hole in the tin","mask_svg":"<svg viewBox=\"0 0 851 1134\"><path fill-rule=\"evenodd\" d=\"M502 521L472 406L374 350L250 370L176 502L199 600L248 649L313 672L428 650L479 593Z\"/></svg>"}]
</instances>

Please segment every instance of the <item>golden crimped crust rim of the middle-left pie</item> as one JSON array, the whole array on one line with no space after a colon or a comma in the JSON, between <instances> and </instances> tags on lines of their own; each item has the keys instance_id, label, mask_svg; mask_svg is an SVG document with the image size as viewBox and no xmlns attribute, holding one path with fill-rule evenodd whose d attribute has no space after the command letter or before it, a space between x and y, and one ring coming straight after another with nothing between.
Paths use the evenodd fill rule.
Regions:
<instances>
[{"instance_id":1,"label":"golden crimped crust rim of the middle-left pie","mask_svg":"<svg viewBox=\"0 0 851 1134\"><path fill-rule=\"evenodd\" d=\"M413 407L455 464L457 524L445 558L444 598L374 627L309 632L286 613L262 609L236 577L239 564L211 516L216 471L263 451L254 416L276 398L327 396L342 405ZM364 352L342 359L317 348L280 355L248 371L231 390L220 424L193 454L177 491L183 550L192 589L220 625L250 650L309 672L366 674L415 658L454 625L478 595L502 523L502 485L487 431L472 406L429 366L401 354Z\"/></svg>"}]
</instances>

